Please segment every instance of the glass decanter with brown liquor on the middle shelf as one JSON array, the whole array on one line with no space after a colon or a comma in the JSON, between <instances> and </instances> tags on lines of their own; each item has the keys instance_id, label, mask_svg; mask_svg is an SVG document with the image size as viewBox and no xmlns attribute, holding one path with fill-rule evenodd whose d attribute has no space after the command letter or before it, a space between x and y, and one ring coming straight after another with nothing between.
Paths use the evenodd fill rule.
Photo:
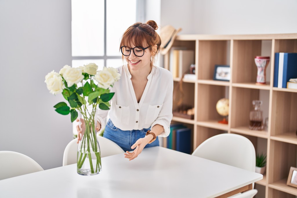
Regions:
<instances>
[{"instance_id":1,"label":"glass decanter with brown liquor on the middle shelf","mask_svg":"<svg viewBox=\"0 0 297 198\"><path fill-rule=\"evenodd\" d=\"M263 130L263 111L260 110L262 100L253 100L254 110L249 113L249 129Z\"/></svg>"}]
</instances>

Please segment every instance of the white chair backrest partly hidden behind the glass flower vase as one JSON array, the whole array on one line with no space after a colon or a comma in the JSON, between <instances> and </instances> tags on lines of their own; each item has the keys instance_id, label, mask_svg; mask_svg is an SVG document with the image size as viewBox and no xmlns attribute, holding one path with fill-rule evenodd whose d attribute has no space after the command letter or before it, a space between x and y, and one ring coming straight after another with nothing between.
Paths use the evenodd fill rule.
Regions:
<instances>
[{"instance_id":1,"label":"white chair backrest partly hidden behind the glass flower vase","mask_svg":"<svg viewBox=\"0 0 297 198\"><path fill-rule=\"evenodd\" d=\"M102 158L110 155L125 153L124 150L118 144L111 141L110 139L107 139L105 137L98 136L98 135L97 135L97 139L99 142L100 153ZM71 140L67 144L63 155L63 166L77 163L77 145L78 144L76 142L77 142L77 138Z\"/></svg>"}]
</instances>

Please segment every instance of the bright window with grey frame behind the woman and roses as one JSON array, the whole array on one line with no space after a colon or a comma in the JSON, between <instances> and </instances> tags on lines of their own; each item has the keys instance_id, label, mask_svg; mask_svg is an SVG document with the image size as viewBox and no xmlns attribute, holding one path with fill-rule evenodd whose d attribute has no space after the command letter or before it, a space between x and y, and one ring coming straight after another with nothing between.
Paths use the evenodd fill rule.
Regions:
<instances>
[{"instance_id":1,"label":"bright window with grey frame behind the woman and roses","mask_svg":"<svg viewBox=\"0 0 297 198\"><path fill-rule=\"evenodd\" d=\"M119 44L124 31L136 22L137 0L72 0L72 67L90 62L123 65Z\"/></svg>"}]
</instances>

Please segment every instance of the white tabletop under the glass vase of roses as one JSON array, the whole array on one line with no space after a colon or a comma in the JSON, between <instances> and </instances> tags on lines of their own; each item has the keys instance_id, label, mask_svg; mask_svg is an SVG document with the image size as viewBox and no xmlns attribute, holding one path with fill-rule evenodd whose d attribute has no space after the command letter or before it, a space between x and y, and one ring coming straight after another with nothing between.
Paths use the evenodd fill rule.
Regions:
<instances>
[{"instance_id":1,"label":"white tabletop under the glass vase of roses","mask_svg":"<svg viewBox=\"0 0 297 198\"><path fill-rule=\"evenodd\" d=\"M20 164L21 166L21 164ZM82 176L76 164L0 180L0 197L218 197L263 175L218 162L151 147L134 160L102 158L102 172Z\"/></svg>"}]
</instances>

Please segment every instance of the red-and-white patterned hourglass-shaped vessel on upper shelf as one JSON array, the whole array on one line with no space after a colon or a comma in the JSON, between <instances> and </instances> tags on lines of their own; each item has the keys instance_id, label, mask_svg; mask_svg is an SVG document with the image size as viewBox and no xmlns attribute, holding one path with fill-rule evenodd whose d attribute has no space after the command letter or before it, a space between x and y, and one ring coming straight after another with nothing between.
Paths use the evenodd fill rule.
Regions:
<instances>
[{"instance_id":1,"label":"red-and-white patterned hourglass-shaped vessel on upper shelf","mask_svg":"<svg viewBox=\"0 0 297 198\"><path fill-rule=\"evenodd\" d=\"M256 84L266 84L266 68L270 61L270 56L256 56L255 64L257 65L257 83Z\"/></svg>"}]
</instances>

